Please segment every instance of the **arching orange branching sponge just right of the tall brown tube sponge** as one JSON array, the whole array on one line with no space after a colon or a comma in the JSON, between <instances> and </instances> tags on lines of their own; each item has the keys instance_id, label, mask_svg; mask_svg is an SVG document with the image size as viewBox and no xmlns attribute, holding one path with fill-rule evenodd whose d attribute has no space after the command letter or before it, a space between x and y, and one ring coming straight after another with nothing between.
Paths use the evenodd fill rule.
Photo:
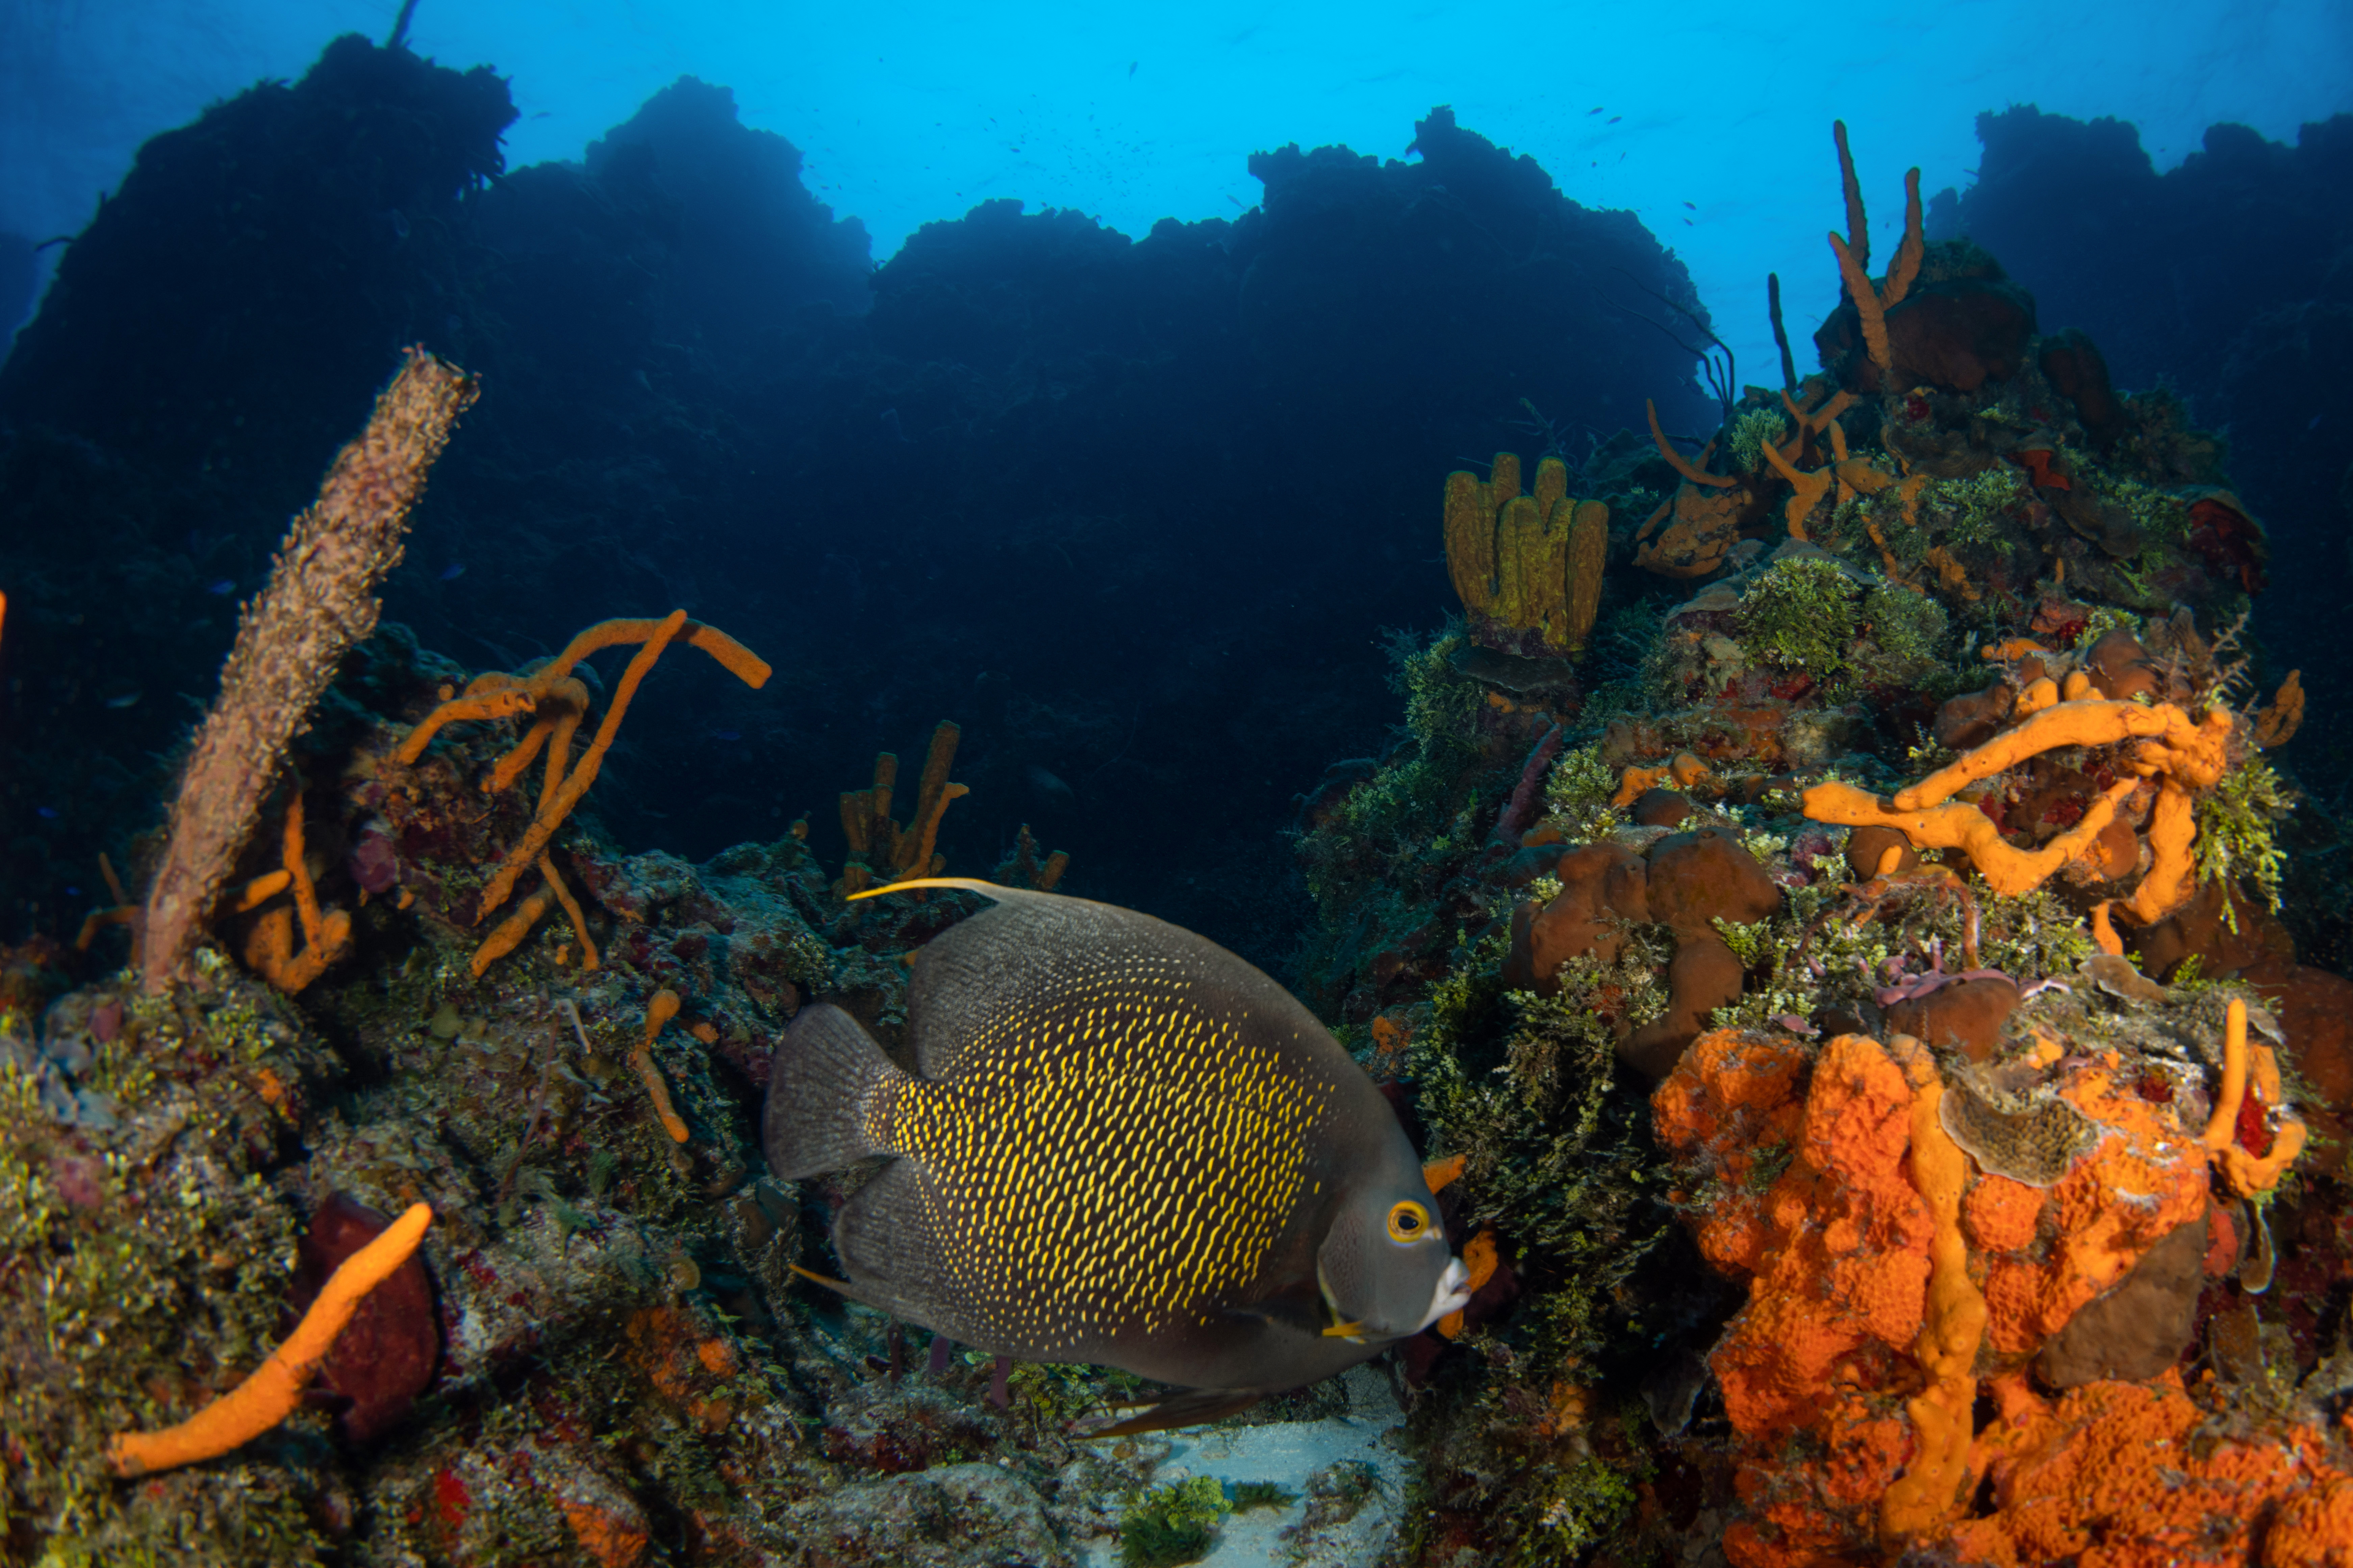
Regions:
<instances>
[{"instance_id":1,"label":"arching orange branching sponge just right of the tall brown tube sponge","mask_svg":"<svg viewBox=\"0 0 2353 1568\"><path fill-rule=\"evenodd\" d=\"M532 715L532 726L522 733L515 748L499 759L499 764L489 771L489 778L482 780L482 788L492 795L511 790L515 780L522 778L522 771L541 752L546 752L548 762L539 783L539 806L532 825L522 835L522 842L506 853L506 860L499 863L499 870L492 872L489 882L482 886L478 919L487 919L496 912L499 905L513 896L515 882L522 872L534 865L539 867L544 886L513 914L508 914L508 919L492 931L489 940L475 950L475 976L513 952L522 938L529 936L539 917L553 905L562 905L565 914L572 919L572 933L579 936L581 943L581 966L598 966L595 940L588 936L588 922L581 914L581 905L555 872L555 863L546 851L555 830L562 827L565 818L572 816L572 809L579 806L581 797L588 792L588 785L595 783L598 769L605 764L605 752L612 750L612 738L621 726L621 715L628 710L628 703L638 693L638 684L645 679L647 670L654 668L654 661L661 658L661 651L671 642L685 642L704 654L711 654L711 658L715 658L729 675L753 689L765 686L772 675L767 661L758 654L715 625L689 621L682 609L671 611L661 621L598 621L572 637L562 654L529 675L487 670L473 677L466 684L466 691L454 696L447 696L445 686L442 705L419 719L393 752L393 762L416 766L433 736L449 724ZM579 733L581 722L588 717L588 686L572 675L572 670L600 649L626 644L640 644L638 654L628 661L628 670L624 670L621 682L614 686L612 703L605 708L605 722L598 724L595 738L588 750L581 752L579 766L572 766L572 741Z\"/></svg>"}]
</instances>

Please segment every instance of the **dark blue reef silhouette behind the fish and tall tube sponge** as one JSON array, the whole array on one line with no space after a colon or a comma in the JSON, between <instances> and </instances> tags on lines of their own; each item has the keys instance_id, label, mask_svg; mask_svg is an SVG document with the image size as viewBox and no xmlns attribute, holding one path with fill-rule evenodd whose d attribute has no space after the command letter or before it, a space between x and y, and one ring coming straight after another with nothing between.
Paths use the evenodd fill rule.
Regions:
<instances>
[{"instance_id":1,"label":"dark blue reef silhouette behind the fish and tall tube sponge","mask_svg":"<svg viewBox=\"0 0 2353 1568\"><path fill-rule=\"evenodd\" d=\"M1391 717L1372 628L1442 602L1431 475L1525 442L1522 400L1593 437L1708 407L1617 303L1704 320L1685 268L1442 108L1419 162L1257 155L1240 221L984 202L873 270L722 87L579 165L506 172L511 120L487 68L344 38L153 139L71 244L0 369L16 926L71 929L64 889L151 825L181 693L402 343L485 400L391 618L511 668L687 604L779 668L640 719L621 837L814 813L824 846L875 745L953 715L951 863L1035 820L1082 891L1259 957L1301 907L1292 795Z\"/></svg>"}]
</instances>

